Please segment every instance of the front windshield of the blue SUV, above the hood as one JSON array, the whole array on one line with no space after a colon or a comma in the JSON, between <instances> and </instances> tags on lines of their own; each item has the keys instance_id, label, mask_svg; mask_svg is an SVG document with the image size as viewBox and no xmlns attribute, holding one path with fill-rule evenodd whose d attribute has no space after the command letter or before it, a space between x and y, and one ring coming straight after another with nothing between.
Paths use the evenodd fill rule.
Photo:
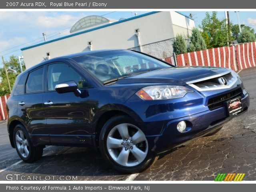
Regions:
<instances>
[{"instance_id":1,"label":"front windshield of the blue SUV, above the hood","mask_svg":"<svg viewBox=\"0 0 256 192\"><path fill-rule=\"evenodd\" d=\"M131 50L112 50L73 58L102 83L114 82L135 74L172 66Z\"/></svg>"}]
</instances>

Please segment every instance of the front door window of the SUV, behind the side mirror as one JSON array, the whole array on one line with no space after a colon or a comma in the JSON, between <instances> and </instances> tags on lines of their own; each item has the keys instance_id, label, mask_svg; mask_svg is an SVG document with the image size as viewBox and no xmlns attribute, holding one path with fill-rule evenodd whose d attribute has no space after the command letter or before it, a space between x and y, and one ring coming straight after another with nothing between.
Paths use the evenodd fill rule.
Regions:
<instances>
[{"instance_id":1,"label":"front door window of the SUV, behind the side mirror","mask_svg":"<svg viewBox=\"0 0 256 192\"><path fill-rule=\"evenodd\" d=\"M78 88L90 87L88 82L80 76L70 66L62 63L51 64L48 66L48 90L55 90L57 84L75 81Z\"/></svg>"}]
</instances>

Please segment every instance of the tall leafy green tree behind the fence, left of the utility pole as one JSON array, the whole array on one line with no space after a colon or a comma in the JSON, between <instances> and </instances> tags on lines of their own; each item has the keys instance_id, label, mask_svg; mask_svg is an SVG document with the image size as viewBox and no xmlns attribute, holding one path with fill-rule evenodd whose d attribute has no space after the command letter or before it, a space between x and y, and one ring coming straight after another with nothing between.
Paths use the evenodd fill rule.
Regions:
<instances>
[{"instance_id":1,"label":"tall leafy green tree behind the fence, left of the utility pole","mask_svg":"<svg viewBox=\"0 0 256 192\"><path fill-rule=\"evenodd\" d=\"M206 17L200 26L207 48L216 48L228 45L228 29L226 20L219 20L217 12L206 12ZM208 37L207 37L208 36Z\"/></svg>"}]
</instances>

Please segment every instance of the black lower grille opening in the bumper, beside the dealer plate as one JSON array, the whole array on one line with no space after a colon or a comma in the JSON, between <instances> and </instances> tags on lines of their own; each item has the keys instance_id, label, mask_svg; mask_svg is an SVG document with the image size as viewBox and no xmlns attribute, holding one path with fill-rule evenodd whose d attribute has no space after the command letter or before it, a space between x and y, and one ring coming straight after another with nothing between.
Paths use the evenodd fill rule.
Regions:
<instances>
[{"instance_id":1,"label":"black lower grille opening in the bumper, beside the dealer plate","mask_svg":"<svg viewBox=\"0 0 256 192\"><path fill-rule=\"evenodd\" d=\"M208 100L208 108L210 110L220 108L220 107L224 106L224 104L226 103L227 100L236 98L238 96L242 97L242 89L241 88L238 88L232 92L229 92L229 93L226 93L226 94L223 94L220 96L216 96L214 98L210 98Z\"/></svg>"}]
</instances>

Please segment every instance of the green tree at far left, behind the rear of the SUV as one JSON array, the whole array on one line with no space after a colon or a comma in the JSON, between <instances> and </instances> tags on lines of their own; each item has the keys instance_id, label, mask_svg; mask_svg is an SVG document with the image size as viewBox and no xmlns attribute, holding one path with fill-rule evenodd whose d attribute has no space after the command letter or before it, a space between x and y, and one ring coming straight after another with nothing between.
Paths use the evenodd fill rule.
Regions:
<instances>
[{"instance_id":1,"label":"green tree at far left, behind the rear of the SUV","mask_svg":"<svg viewBox=\"0 0 256 192\"><path fill-rule=\"evenodd\" d=\"M13 70L16 71L16 72L9 72L8 73L10 86L12 88L12 86L15 82L16 76L18 74L20 74L20 72L21 72L18 57L13 56L13 55L10 56L9 60L5 61L5 66L6 66L6 69L10 68L10 69L13 69ZM26 68L24 66L24 63L22 63L22 69L26 70ZM6 77L6 72L4 70L4 66L2 68L0 68L0 81L1 81L1 83L0 83L0 96L10 94L10 90L9 90L8 81L7 81L7 77Z\"/></svg>"}]
</instances>

